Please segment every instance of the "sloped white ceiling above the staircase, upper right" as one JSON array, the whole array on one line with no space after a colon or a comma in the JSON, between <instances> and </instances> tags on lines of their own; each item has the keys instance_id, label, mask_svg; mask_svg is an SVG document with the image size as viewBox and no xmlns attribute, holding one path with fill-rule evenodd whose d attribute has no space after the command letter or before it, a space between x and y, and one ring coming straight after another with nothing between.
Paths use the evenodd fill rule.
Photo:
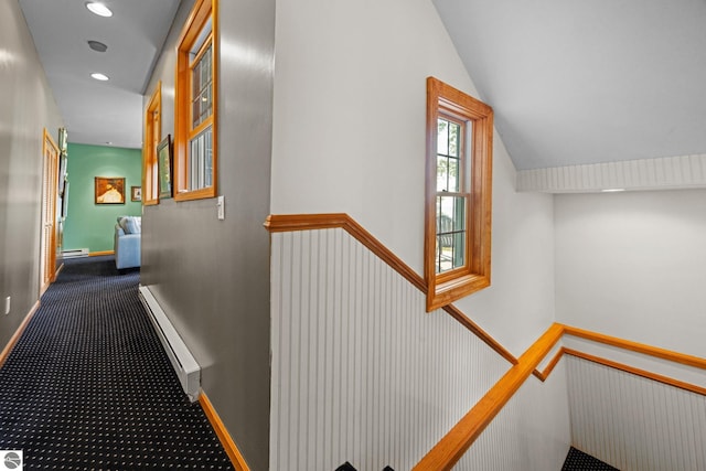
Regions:
<instances>
[{"instance_id":1,"label":"sloped white ceiling above the staircase, upper right","mask_svg":"<svg viewBox=\"0 0 706 471\"><path fill-rule=\"evenodd\" d=\"M518 170L706 153L706 1L434 3Z\"/></svg>"}]
</instances>

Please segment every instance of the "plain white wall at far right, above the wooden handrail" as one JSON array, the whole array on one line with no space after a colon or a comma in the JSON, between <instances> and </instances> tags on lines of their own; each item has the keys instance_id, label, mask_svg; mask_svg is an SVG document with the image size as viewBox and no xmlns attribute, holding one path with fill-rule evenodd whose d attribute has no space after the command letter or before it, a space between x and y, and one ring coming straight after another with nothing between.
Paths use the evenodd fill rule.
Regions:
<instances>
[{"instance_id":1,"label":"plain white wall at far right, above the wooden handrail","mask_svg":"<svg viewBox=\"0 0 706 471\"><path fill-rule=\"evenodd\" d=\"M555 201L557 321L706 356L706 190Z\"/></svg>"}]
</instances>

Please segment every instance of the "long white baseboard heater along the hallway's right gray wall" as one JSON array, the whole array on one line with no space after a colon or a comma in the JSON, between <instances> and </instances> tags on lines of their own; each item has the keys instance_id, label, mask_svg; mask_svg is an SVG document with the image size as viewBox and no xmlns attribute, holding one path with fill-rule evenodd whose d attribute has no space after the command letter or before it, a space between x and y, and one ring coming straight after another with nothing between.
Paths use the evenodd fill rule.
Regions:
<instances>
[{"instance_id":1,"label":"long white baseboard heater along the hallway's right gray wall","mask_svg":"<svg viewBox=\"0 0 706 471\"><path fill-rule=\"evenodd\" d=\"M192 403L196 402L201 392L201 366L196 363L184 341L179 336L150 289L146 286L140 286L139 291L140 301L142 301L150 321L154 325L157 335L167 352L167 356L169 356L176 372L181 387Z\"/></svg>"}]
</instances>

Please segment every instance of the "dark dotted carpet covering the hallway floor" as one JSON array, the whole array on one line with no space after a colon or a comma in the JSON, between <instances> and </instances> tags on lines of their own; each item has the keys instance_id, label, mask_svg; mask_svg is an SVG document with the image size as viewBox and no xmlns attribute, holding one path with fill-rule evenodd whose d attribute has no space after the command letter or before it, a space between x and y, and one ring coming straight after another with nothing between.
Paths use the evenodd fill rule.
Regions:
<instances>
[{"instance_id":1,"label":"dark dotted carpet covering the hallway floor","mask_svg":"<svg viewBox=\"0 0 706 471\"><path fill-rule=\"evenodd\" d=\"M113 257L66 260L0 370L0 450L25 470L233 469Z\"/></svg>"}]
</instances>

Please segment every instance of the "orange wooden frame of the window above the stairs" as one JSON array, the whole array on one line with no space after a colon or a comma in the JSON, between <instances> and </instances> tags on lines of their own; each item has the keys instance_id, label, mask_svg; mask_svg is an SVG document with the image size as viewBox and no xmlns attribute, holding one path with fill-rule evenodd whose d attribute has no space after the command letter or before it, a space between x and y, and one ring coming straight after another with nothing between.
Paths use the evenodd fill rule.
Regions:
<instances>
[{"instance_id":1,"label":"orange wooden frame of the window above the stairs","mask_svg":"<svg viewBox=\"0 0 706 471\"><path fill-rule=\"evenodd\" d=\"M461 167L470 178L467 199L466 265L436 272L437 133L439 117L472 122ZM435 78L427 78L427 161L425 193L425 281L427 312L490 286L493 109Z\"/></svg>"}]
</instances>

